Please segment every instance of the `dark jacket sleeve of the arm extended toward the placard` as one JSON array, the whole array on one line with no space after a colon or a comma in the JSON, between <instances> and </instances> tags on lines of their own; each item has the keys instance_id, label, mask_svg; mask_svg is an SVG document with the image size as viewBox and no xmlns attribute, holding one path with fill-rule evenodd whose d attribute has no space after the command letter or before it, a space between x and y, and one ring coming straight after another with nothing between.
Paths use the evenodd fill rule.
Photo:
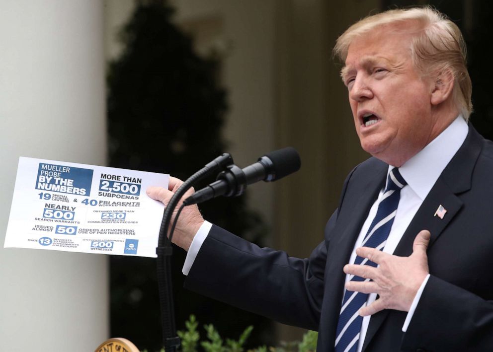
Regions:
<instances>
[{"instance_id":1,"label":"dark jacket sleeve of the arm extended toward the placard","mask_svg":"<svg viewBox=\"0 0 493 352\"><path fill-rule=\"evenodd\" d=\"M325 241L300 259L213 225L185 287L284 324L318 330L326 257Z\"/></svg>"}]
</instances>

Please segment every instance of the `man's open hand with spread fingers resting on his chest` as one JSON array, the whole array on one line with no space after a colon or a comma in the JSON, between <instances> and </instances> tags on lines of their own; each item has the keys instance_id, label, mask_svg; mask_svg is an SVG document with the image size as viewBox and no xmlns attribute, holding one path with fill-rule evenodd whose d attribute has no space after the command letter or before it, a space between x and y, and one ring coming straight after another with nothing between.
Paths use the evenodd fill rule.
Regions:
<instances>
[{"instance_id":1,"label":"man's open hand with spread fingers resting on his chest","mask_svg":"<svg viewBox=\"0 0 493 352\"><path fill-rule=\"evenodd\" d=\"M414 239L412 254L409 257L398 257L375 248L356 249L358 256L378 264L377 268L355 264L344 266L346 274L371 279L367 282L346 282L347 290L377 293L380 296L370 305L360 309L361 316L372 315L383 309L409 311L414 296L429 272L426 255L429 240L430 232L420 231Z\"/></svg>"}]
</instances>

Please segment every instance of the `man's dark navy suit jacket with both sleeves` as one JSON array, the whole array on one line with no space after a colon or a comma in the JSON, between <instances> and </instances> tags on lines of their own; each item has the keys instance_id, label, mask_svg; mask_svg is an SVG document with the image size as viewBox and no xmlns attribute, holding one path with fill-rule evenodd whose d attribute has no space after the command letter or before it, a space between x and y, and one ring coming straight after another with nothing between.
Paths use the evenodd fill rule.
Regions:
<instances>
[{"instance_id":1,"label":"man's dark navy suit jacket with both sleeves","mask_svg":"<svg viewBox=\"0 0 493 352\"><path fill-rule=\"evenodd\" d=\"M338 209L308 259L259 248L213 226L185 287L285 324L319 331L333 351L344 273L361 226L384 186L388 165L370 158L347 176ZM372 316L363 351L493 351L493 143L469 128L412 219L394 254L408 256L431 232L431 277L406 333L406 312ZM438 206L443 219L433 216ZM302 234L300 234L302 235Z\"/></svg>"}]
</instances>

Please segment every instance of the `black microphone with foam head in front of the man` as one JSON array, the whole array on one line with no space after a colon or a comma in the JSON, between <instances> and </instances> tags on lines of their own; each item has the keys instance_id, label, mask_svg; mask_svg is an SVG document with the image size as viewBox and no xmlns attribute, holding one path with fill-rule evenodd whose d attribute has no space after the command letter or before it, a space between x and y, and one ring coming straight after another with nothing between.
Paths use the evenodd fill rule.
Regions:
<instances>
[{"instance_id":1,"label":"black microphone with foam head in front of the man","mask_svg":"<svg viewBox=\"0 0 493 352\"><path fill-rule=\"evenodd\" d=\"M205 202L219 196L236 197L245 192L246 186L258 181L272 182L296 172L301 167L300 155L293 147L271 151L258 161L240 169L236 165L228 166L221 172L217 181L195 192L185 199L185 206Z\"/></svg>"}]
</instances>

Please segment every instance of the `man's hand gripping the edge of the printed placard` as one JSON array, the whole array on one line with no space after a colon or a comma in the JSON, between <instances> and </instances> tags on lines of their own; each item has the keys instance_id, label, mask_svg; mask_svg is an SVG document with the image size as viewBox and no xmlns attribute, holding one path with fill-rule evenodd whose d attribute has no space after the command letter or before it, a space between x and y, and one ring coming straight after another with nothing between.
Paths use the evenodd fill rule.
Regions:
<instances>
[{"instance_id":1,"label":"man's hand gripping the edge of the printed placard","mask_svg":"<svg viewBox=\"0 0 493 352\"><path fill-rule=\"evenodd\" d=\"M176 177L169 177L169 185L168 190L163 187L149 187L146 190L147 195L156 200L160 201L167 206L171 197L173 197L174 193L178 190L178 188L183 184L183 181L177 179ZM178 211L179 206L187 197L193 194L193 188L190 188L183 198L178 202L178 206L173 211L173 216L171 218L171 223L174 221L174 217L176 216L176 212ZM188 251L190 248L190 244L192 243L193 237L197 233L200 226L204 223L204 218L200 214L200 211L196 205L191 205L183 208L180 216L178 217L178 222L176 223L176 228L174 229L172 242L177 246L183 248L185 251ZM169 234L168 234L169 236Z\"/></svg>"}]
</instances>

